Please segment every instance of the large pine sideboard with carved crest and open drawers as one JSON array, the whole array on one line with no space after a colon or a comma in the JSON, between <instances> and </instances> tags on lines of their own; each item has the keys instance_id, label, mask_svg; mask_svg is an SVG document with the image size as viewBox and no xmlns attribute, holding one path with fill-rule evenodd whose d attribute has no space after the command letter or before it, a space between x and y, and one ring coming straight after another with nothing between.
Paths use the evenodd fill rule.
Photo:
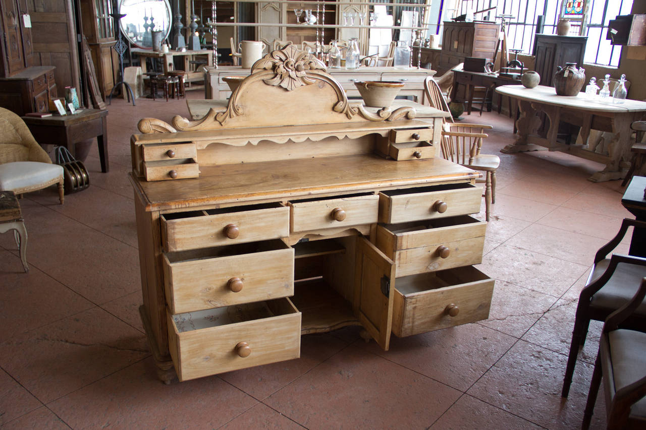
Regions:
<instances>
[{"instance_id":1,"label":"large pine sideboard with carved crest and open drawers","mask_svg":"<svg viewBox=\"0 0 646 430\"><path fill-rule=\"evenodd\" d=\"M297 358L302 335L347 325L387 350L488 318L479 174L439 157L444 116L353 105L287 46L225 110L141 119L140 314L161 380Z\"/></svg>"}]
</instances>

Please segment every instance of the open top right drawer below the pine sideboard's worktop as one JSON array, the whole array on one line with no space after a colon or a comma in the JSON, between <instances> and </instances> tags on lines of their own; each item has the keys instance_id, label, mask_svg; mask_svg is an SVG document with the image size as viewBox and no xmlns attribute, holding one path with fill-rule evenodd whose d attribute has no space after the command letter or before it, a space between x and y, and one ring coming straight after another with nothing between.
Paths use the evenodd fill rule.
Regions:
<instances>
[{"instance_id":1,"label":"open top right drawer below the pine sideboard's worktop","mask_svg":"<svg viewBox=\"0 0 646 430\"><path fill-rule=\"evenodd\" d=\"M445 218L480 212L482 190L470 183L432 185L379 193L379 221L408 221Z\"/></svg>"}]
</instances>

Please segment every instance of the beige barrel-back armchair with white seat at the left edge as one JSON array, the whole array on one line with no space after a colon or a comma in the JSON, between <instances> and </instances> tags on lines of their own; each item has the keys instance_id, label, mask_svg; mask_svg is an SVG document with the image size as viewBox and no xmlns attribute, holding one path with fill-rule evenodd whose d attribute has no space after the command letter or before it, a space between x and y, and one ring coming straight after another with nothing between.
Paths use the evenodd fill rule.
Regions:
<instances>
[{"instance_id":1,"label":"beige barrel-back armchair with white seat at the left edge","mask_svg":"<svg viewBox=\"0 0 646 430\"><path fill-rule=\"evenodd\" d=\"M25 121L14 112L0 108L0 191L23 194L55 183L62 205L63 167L52 164Z\"/></svg>"}]
</instances>

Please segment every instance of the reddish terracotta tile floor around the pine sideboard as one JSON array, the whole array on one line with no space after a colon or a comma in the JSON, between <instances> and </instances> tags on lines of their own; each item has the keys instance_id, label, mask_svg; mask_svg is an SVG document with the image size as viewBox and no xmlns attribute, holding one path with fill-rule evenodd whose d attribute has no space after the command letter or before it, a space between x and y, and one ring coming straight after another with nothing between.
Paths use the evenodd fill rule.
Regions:
<instances>
[{"instance_id":1,"label":"reddish terracotta tile floor around the pine sideboard","mask_svg":"<svg viewBox=\"0 0 646 430\"><path fill-rule=\"evenodd\" d=\"M630 216L620 181L587 181L601 165L554 152L501 154L512 121L467 117L494 126L483 152L501 157L479 267L496 278L488 320L393 336L387 352L356 328L306 336L298 360L165 386L137 312L129 136L140 118L170 121L187 109L184 101L136 103L109 107L109 173L100 172L95 145L89 189L63 206L55 189L21 200L28 274L12 235L0 236L1 427L579 427L601 323L592 323L570 397L561 399L576 300L594 252ZM603 396L592 427L605 427Z\"/></svg>"}]
</instances>

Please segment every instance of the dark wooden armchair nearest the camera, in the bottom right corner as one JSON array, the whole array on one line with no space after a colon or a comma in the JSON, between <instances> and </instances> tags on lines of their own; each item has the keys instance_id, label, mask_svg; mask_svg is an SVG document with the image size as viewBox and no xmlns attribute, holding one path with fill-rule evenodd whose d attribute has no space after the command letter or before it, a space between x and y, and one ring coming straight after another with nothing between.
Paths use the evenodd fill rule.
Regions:
<instances>
[{"instance_id":1,"label":"dark wooden armchair nearest the camera, in the bottom right corner","mask_svg":"<svg viewBox=\"0 0 646 430\"><path fill-rule=\"evenodd\" d=\"M635 289L636 285L630 287ZM646 278L642 278L630 302L612 312L603 325L583 413L583 430L590 427L602 375L607 428L646 429L646 333L621 328L626 320L634 316L634 312L643 307L645 296Z\"/></svg>"}]
</instances>

